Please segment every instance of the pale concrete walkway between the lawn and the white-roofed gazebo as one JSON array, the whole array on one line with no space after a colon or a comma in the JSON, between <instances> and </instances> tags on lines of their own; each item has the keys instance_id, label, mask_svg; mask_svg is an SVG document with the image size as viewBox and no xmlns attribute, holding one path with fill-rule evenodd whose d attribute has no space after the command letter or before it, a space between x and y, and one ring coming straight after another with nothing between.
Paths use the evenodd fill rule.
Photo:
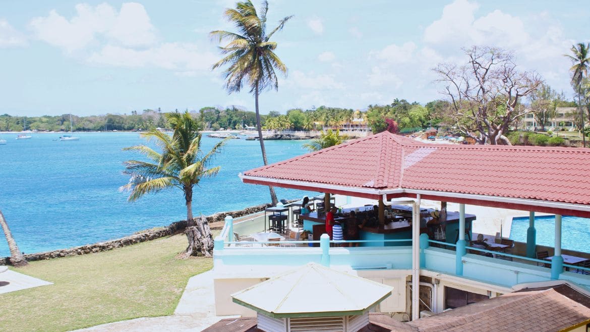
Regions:
<instances>
[{"instance_id":1,"label":"pale concrete walkway between the lawn and the white-roofed gazebo","mask_svg":"<svg viewBox=\"0 0 590 332\"><path fill-rule=\"evenodd\" d=\"M208 271L189 279L181 300L171 316L136 318L77 331L202 331L222 318L231 317L238 316L215 315L213 272Z\"/></svg>"}]
</instances>

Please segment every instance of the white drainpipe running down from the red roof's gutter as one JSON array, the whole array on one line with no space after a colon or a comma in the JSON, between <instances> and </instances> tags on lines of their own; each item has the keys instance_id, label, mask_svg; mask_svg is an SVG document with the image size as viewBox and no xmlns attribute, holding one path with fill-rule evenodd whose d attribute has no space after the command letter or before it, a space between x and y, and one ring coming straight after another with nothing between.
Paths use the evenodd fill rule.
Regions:
<instances>
[{"instance_id":1,"label":"white drainpipe running down from the red roof's gutter","mask_svg":"<svg viewBox=\"0 0 590 332\"><path fill-rule=\"evenodd\" d=\"M411 204L412 206L412 283L419 285L420 281L420 194L416 194L415 200L391 200L387 201L387 195L383 194L383 204ZM412 287L412 320L420 318L419 287Z\"/></svg>"}]
</instances>

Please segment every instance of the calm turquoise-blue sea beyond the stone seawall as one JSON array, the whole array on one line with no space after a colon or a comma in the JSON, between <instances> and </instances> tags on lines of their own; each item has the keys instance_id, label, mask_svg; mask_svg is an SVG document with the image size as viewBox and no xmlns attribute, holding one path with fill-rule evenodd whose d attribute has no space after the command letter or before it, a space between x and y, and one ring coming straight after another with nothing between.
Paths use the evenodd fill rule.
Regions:
<instances>
[{"instance_id":1,"label":"calm turquoise-blue sea beyond the stone seawall","mask_svg":"<svg viewBox=\"0 0 590 332\"><path fill-rule=\"evenodd\" d=\"M78 134L80 141L53 141L60 134L32 134L0 145L0 210L19 249L42 252L86 245L166 226L186 219L178 189L150 194L127 203L118 188L129 180L122 162L137 158L122 148L143 144L136 133ZM219 139L204 137L204 151ZM265 142L269 162L306 153L304 141ZM263 164L258 141L232 139L215 157L221 171L195 187L193 213L238 210L270 201L268 187L242 184L238 173ZM281 198L302 197L302 191L276 188ZM0 256L9 256L0 233Z\"/></svg>"}]
</instances>

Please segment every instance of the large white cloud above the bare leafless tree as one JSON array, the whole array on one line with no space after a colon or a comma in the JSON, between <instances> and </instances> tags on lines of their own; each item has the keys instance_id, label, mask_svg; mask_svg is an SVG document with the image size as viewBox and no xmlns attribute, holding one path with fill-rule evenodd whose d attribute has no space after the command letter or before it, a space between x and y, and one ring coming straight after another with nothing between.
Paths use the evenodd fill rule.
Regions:
<instances>
[{"instance_id":1,"label":"large white cloud above the bare leafless tree","mask_svg":"<svg viewBox=\"0 0 590 332\"><path fill-rule=\"evenodd\" d=\"M439 61L463 63L461 47L494 45L514 51L521 70L535 70L556 90L569 90L568 61L562 56L575 42L566 38L559 19L548 12L513 16L499 9L476 15L478 5L455 0L424 31L427 47L442 54Z\"/></svg>"}]
</instances>

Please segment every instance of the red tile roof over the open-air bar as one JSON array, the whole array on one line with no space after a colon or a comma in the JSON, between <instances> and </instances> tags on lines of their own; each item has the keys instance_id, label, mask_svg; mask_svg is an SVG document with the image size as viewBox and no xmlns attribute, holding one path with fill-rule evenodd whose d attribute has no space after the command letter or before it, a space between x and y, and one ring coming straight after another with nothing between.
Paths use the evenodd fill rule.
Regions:
<instances>
[{"instance_id":1,"label":"red tile roof over the open-air bar","mask_svg":"<svg viewBox=\"0 0 590 332\"><path fill-rule=\"evenodd\" d=\"M429 190L590 204L588 148L431 144L382 132L244 175L351 190Z\"/></svg>"}]
</instances>

